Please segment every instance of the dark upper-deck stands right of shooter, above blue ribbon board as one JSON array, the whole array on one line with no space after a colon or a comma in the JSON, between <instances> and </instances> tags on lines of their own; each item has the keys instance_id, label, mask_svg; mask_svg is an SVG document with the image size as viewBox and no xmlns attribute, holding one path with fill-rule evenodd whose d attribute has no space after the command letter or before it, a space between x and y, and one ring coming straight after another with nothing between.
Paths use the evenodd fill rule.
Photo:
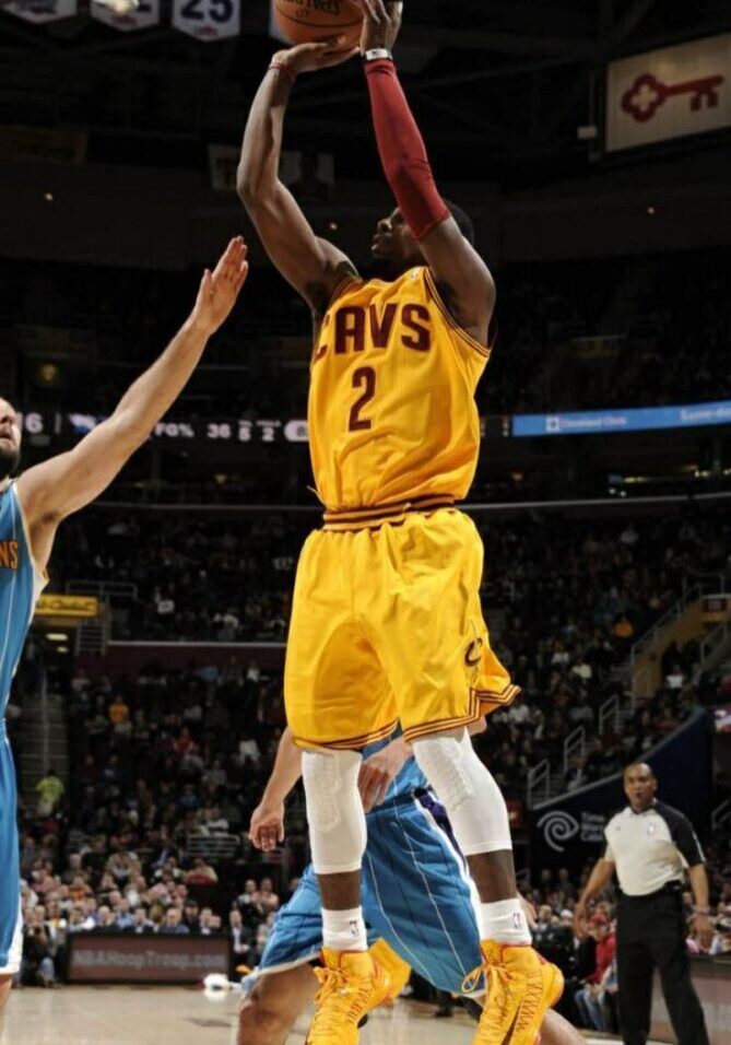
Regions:
<instances>
[{"instance_id":1,"label":"dark upper-deck stands right of shooter, above blue ribbon board","mask_svg":"<svg viewBox=\"0 0 731 1045\"><path fill-rule=\"evenodd\" d=\"M485 411L728 398L730 271L726 248L508 266L498 351L479 394Z\"/></svg>"}]
</instances>

